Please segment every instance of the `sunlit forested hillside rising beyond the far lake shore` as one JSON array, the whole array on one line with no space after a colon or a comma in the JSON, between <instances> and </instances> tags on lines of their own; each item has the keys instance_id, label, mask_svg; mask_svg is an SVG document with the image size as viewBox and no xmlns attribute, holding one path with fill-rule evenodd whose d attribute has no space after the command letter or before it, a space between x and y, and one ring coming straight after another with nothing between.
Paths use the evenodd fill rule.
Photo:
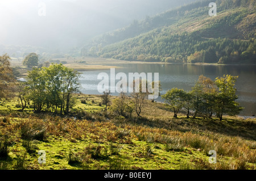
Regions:
<instances>
[{"instance_id":1,"label":"sunlit forested hillside rising beyond the far lake shore","mask_svg":"<svg viewBox=\"0 0 256 181\"><path fill-rule=\"evenodd\" d=\"M199 1L104 34L82 54L120 60L255 64L256 2Z\"/></svg>"}]
</instances>

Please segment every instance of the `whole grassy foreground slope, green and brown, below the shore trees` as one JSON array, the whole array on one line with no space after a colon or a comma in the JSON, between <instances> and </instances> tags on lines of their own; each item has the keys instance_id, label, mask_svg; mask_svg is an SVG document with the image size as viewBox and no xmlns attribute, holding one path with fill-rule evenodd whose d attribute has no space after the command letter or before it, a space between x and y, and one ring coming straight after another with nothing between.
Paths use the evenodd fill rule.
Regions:
<instances>
[{"instance_id":1,"label":"whole grassy foreground slope, green and brown, below the shore trees","mask_svg":"<svg viewBox=\"0 0 256 181\"><path fill-rule=\"evenodd\" d=\"M256 169L256 119L174 119L150 101L141 118L125 119L102 111L96 95L76 102L73 116L0 107L0 169Z\"/></svg>"}]
</instances>

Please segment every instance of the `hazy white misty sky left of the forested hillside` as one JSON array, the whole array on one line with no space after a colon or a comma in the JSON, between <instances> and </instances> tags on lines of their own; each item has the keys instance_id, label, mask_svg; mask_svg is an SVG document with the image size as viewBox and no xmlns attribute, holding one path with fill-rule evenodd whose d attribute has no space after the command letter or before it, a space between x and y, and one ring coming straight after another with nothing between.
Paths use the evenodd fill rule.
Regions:
<instances>
[{"instance_id":1,"label":"hazy white misty sky left of the forested hillside","mask_svg":"<svg viewBox=\"0 0 256 181\"><path fill-rule=\"evenodd\" d=\"M134 19L191 1L0 0L0 45L60 49L80 46L94 36L125 27ZM46 12L45 16L42 12Z\"/></svg>"}]
</instances>

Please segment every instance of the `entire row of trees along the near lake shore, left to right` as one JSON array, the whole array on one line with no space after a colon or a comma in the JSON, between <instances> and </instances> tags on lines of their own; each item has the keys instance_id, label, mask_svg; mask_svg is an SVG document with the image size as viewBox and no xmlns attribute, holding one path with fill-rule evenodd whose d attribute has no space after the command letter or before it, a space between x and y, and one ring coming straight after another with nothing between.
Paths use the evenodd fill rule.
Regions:
<instances>
[{"instance_id":1,"label":"entire row of trees along the near lake shore, left to right","mask_svg":"<svg viewBox=\"0 0 256 181\"><path fill-rule=\"evenodd\" d=\"M10 68L10 57L7 54L0 56L0 100L5 102L11 98L12 92L18 92L22 111L32 101L34 111L48 111L60 114L68 114L72 95L79 92L80 73L67 68L62 64L51 64L48 68L33 68L28 71L27 81L15 81L13 71ZM187 117L193 111L193 118L203 115L212 117L216 115L220 120L227 114L234 116L243 109L236 100L235 83L238 76L224 75L217 77L215 81L200 75L191 91L173 88L162 95L162 99L168 108L174 112L174 117L181 110L187 110ZM140 85L141 86L141 85ZM159 87L161 87L159 82ZM141 89L140 89L141 90ZM130 100L125 93L113 100L110 110L118 116L131 117L133 111L141 116L145 104L147 104L148 92L132 93ZM101 96L102 103L110 104L109 93Z\"/></svg>"}]
</instances>

